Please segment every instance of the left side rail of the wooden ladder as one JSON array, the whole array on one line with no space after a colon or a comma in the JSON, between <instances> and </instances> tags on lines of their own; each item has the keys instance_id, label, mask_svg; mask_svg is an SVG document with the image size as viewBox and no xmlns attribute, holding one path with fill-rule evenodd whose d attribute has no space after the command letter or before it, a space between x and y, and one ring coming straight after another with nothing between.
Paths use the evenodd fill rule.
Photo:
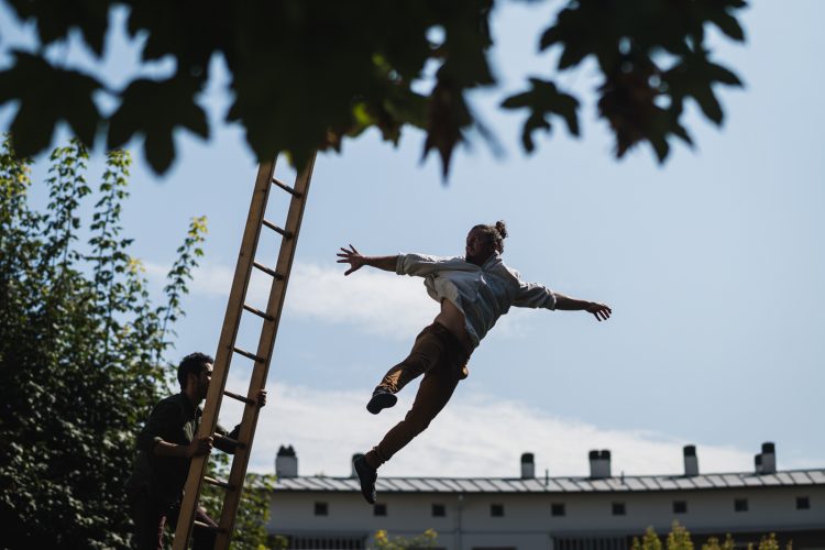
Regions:
<instances>
[{"instance_id":1,"label":"left side rail of the wooden ladder","mask_svg":"<svg viewBox=\"0 0 825 550\"><path fill-rule=\"evenodd\" d=\"M204 416L200 419L200 427L196 437L209 437L215 433L218 425L218 413L220 411L223 389L227 385L229 367L232 362L234 342L238 336L238 327L241 321L242 306L246 298L246 289L252 273L252 262L255 257L257 241L261 234L261 221L266 210L266 202L270 195L270 180L275 173L275 161L262 163L257 169L255 178L255 190L250 204L250 212L246 218L246 227L243 231L241 241L241 251L238 255L235 273L232 279L232 288L227 301L227 312L223 317L223 327L218 343L218 350L215 354L215 365L212 369L212 378L209 383L207 398L204 406ZM193 522L195 520L195 510L200 497L201 480L206 474L206 468L209 455L195 457L189 465L189 474L186 479L184 499L180 504L175 539L173 542L174 550L185 550L188 546L189 536L191 535Z\"/></svg>"}]
</instances>

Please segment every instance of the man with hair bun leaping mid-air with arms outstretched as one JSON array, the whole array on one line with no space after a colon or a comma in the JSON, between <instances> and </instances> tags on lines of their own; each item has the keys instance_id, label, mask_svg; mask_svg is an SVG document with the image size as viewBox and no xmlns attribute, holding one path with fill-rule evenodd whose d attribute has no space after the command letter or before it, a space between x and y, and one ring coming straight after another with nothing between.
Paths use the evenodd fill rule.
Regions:
<instances>
[{"instance_id":1,"label":"man with hair bun leaping mid-air with arms outstretched","mask_svg":"<svg viewBox=\"0 0 825 550\"><path fill-rule=\"evenodd\" d=\"M395 394L424 374L413 408L404 420L353 462L367 503L375 503L378 468L421 433L447 405L459 381L468 376L466 364L473 350L510 306L583 310L593 314L598 321L610 317L612 310L604 304L579 300L542 285L522 282L518 272L502 262L506 237L503 221L495 226L475 226L466 237L464 257L363 256L352 244L338 253L338 263L350 264L344 275L369 265L398 275L425 277L428 294L441 304L432 324L416 338L409 356L387 372L366 405L373 415L394 406Z\"/></svg>"}]
</instances>

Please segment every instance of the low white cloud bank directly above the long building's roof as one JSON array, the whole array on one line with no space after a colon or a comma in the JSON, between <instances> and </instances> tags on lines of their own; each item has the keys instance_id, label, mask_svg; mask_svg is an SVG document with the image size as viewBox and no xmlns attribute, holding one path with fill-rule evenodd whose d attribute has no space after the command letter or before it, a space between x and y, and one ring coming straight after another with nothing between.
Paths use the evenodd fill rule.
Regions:
<instances>
[{"instance_id":1,"label":"low white cloud bank directly above the long building's roof","mask_svg":"<svg viewBox=\"0 0 825 550\"><path fill-rule=\"evenodd\" d=\"M349 475L353 453L374 446L409 408L416 384L378 416L365 408L369 392L327 392L276 385L262 410L251 470L272 472L282 444L295 447L299 473ZM228 420L231 415L226 415ZM227 421L227 424L230 424ZM536 454L536 473L587 475L587 452L609 449L613 473L678 474L682 447L696 443L702 472L751 468L749 452L682 441L661 433L607 430L490 396L457 396L430 425L382 468L387 476L518 476L522 452ZM782 465L788 468L788 465Z\"/></svg>"}]
</instances>

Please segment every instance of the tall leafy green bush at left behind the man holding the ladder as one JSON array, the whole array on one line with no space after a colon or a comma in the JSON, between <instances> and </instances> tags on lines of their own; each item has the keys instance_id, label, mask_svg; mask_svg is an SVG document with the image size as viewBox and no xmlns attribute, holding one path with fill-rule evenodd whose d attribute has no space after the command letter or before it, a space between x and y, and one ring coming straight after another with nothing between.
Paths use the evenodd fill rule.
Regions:
<instances>
[{"instance_id":1,"label":"tall leafy green bush at left behind the man holding the ladder","mask_svg":"<svg viewBox=\"0 0 825 550\"><path fill-rule=\"evenodd\" d=\"M167 394L166 321L182 315L204 219L195 219L153 307L121 235L130 158L109 154L97 193L79 141L51 157L45 213L29 162L0 151L0 525L9 548L123 548L134 438ZM88 228L78 208L96 197ZM86 244L82 243L88 237ZM81 239L82 238L82 239Z\"/></svg>"}]
</instances>

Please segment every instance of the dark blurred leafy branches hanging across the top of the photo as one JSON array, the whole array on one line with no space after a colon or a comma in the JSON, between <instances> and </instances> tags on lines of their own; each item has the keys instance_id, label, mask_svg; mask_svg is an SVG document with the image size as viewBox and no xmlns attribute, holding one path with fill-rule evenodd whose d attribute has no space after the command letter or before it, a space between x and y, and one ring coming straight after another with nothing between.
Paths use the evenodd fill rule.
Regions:
<instances>
[{"instance_id":1,"label":"dark blurred leafy branches hanging across the top of the photo","mask_svg":"<svg viewBox=\"0 0 825 550\"><path fill-rule=\"evenodd\" d=\"M227 119L243 125L258 158L286 152L302 166L312 150L340 150L345 138L369 128L397 143L411 125L426 131L424 155L436 151L447 175L455 145L477 125L468 91L496 84L488 63L494 0L6 2L35 24L41 45L34 53L7 51L14 62L0 72L0 105L18 102L11 130L23 155L47 147L55 124L65 121L87 144L99 133L109 147L143 136L150 164L165 172L177 129L209 135L198 94L210 59L220 55L234 98ZM174 74L134 75L122 89L107 89L100 74L46 58L47 47L69 33L100 58L116 7L129 9L131 36L146 38L142 61L174 59ZM570 0L538 42L542 51L560 52L558 70L595 59L603 77L598 114L616 136L618 157L647 142L663 161L671 138L691 143L680 122L686 99L722 122L714 87L740 82L711 59L705 34L715 28L744 41L736 18L744 7L744 0ZM416 91L431 63L429 92ZM534 132L549 131L553 117L578 135L580 101L560 90L553 75L529 82L502 103L527 110L525 148L534 151ZM102 112L96 94L117 107Z\"/></svg>"}]
</instances>

